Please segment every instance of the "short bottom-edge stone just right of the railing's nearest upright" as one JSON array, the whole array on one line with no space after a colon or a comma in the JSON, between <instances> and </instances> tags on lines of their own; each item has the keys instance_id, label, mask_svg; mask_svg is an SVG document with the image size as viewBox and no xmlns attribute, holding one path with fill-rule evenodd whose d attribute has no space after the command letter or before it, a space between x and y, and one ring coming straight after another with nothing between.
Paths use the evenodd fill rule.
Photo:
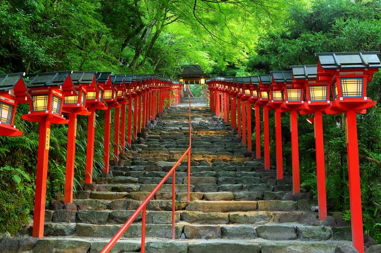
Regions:
<instances>
[{"instance_id":1,"label":"short bottom-edge stone just right of the railing's nearest upright","mask_svg":"<svg viewBox=\"0 0 381 253\"><path fill-rule=\"evenodd\" d=\"M153 241L145 246L147 253L187 253L188 242L185 241Z\"/></svg>"}]
</instances>

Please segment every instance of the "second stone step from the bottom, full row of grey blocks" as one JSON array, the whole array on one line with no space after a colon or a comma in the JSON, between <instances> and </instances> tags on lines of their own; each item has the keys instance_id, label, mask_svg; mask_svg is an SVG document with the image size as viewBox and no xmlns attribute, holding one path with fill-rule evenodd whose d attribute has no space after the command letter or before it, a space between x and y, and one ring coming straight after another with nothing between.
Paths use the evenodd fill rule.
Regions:
<instances>
[{"instance_id":1,"label":"second stone step from the bottom, full row of grey blocks","mask_svg":"<svg viewBox=\"0 0 381 253\"><path fill-rule=\"evenodd\" d=\"M111 238L122 225L94 225L84 223L46 223L44 236L79 236ZM172 238L171 224L146 224L146 237ZM123 238L139 238L142 225L133 223ZM31 228L29 229L29 231ZM175 224L175 238L179 239L256 239L327 241L335 230L325 226L299 224L234 225L234 224Z\"/></svg>"}]
</instances>

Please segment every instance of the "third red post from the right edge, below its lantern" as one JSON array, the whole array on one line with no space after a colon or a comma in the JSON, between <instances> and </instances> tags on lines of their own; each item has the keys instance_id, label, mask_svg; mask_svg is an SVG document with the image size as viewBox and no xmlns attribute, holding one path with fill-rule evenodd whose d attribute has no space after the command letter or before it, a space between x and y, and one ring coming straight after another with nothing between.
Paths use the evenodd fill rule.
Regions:
<instances>
[{"instance_id":1,"label":"third red post from the right edge, below its lantern","mask_svg":"<svg viewBox=\"0 0 381 253\"><path fill-rule=\"evenodd\" d=\"M290 123L291 153L293 167L293 190L294 193L300 193L298 115L296 111L290 112Z\"/></svg>"}]
</instances>

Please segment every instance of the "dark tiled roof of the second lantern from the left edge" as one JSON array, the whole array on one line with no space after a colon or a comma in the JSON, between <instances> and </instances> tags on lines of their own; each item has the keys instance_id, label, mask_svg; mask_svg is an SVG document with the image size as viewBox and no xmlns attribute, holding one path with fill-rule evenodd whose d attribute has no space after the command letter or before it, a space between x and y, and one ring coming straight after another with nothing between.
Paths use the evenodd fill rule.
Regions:
<instances>
[{"instance_id":1,"label":"dark tiled roof of the second lantern from the left edge","mask_svg":"<svg viewBox=\"0 0 381 253\"><path fill-rule=\"evenodd\" d=\"M71 73L72 71L58 71L27 75L26 78L29 79L26 81L27 87L40 88L64 85Z\"/></svg>"}]
</instances>

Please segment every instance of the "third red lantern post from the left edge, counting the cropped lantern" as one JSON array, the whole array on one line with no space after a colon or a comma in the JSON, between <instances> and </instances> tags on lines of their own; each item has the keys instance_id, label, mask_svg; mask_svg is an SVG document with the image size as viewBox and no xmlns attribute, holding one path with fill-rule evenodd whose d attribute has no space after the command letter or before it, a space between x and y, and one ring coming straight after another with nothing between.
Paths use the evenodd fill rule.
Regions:
<instances>
[{"instance_id":1,"label":"third red lantern post from the left edge, counting the cropped lantern","mask_svg":"<svg viewBox=\"0 0 381 253\"><path fill-rule=\"evenodd\" d=\"M86 109L86 88L96 84L94 71L73 71L71 79L75 93L65 96L62 112L69 114L68 152L66 155L65 203L73 202L75 141L77 136L77 115L88 116Z\"/></svg>"}]
</instances>

